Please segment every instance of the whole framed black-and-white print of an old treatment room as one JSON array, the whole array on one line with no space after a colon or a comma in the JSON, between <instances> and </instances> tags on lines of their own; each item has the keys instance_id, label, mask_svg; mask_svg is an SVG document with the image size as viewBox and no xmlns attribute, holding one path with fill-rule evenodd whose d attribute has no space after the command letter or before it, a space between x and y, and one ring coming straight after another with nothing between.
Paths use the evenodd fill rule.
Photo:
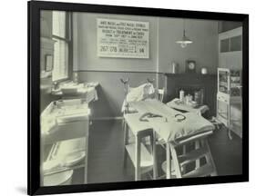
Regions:
<instances>
[{"instance_id":1,"label":"whole framed black-and-white print of an old treatment room","mask_svg":"<svg viewBox=\"0 0 256 196\"><path fill-rule=\"evenodd\" d=\"M29 195L249 181L249 15L31 1L28 27Z\"/></svg>"}]
</instances>

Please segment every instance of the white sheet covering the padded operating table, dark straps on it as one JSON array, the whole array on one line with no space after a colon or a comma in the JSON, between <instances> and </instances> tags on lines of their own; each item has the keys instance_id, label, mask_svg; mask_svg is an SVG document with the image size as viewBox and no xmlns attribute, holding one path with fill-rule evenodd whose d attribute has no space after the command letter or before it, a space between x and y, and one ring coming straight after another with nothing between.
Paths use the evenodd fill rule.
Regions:
<instances>
[{"instance_id":1,"label":"white sheet covering the padded operating table, dark straps on it","mask_svg":"<svg viewBox=\"0 0 256 196\"><path fill-rule=\"evenodd\" d=\"M138 113L154 113L162 117L148 117L148 123L165 142L178 140L200 132L214 130L214 125L196 113L180 113L169 108L158 100L145 100L131 103ZM182 114L184 120L179 121L177 114Z\"/></svg>"}]
</instances>

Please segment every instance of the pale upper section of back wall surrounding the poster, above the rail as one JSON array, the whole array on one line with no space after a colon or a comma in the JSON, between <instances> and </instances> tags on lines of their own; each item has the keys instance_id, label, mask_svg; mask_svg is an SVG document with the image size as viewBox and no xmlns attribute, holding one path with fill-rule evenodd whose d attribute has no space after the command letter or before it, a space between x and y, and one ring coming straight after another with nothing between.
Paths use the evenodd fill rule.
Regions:
<instances>
[{"instance_id":1,"label":"pale upper section of back wall surrounding the poster, above the rail","mask_svg":"<svg viewBox=\"0 0 256 196\"><path fill-rule=\"evenodd\" d=\"M97 18L115 18L149 22L149 59L131 58L103 58L97 57ZM79 13L75 14L74 36L77 42L74 44L75 69L97 71L138 71L156 72L158 51L158 28L156 17L134 15L100 15Z\"/></svg>"}]
</instances>

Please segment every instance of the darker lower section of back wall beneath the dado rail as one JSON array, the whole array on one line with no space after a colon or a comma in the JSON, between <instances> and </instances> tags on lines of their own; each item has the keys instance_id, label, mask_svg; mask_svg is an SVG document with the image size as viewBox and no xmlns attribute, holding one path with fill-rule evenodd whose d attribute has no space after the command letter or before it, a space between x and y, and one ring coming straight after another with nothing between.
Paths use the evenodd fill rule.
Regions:
<instances>
[{"instance_id":1,"label":"darker lower section of back wall beneath the dado rail","mask_svg":"<svg viewBox=\"0 0 256 196\"><path fill-rule=\"evenodd\" d=\"M99 82L97 88L98 101L93 104L92 113L96 117L121 116L121 108L125 99L124 84L120 78L129 78L130 86L146 83L147 78L156 79L156 73L130 72L79 72L82 82Z\"/></svg>"}]
</instances>

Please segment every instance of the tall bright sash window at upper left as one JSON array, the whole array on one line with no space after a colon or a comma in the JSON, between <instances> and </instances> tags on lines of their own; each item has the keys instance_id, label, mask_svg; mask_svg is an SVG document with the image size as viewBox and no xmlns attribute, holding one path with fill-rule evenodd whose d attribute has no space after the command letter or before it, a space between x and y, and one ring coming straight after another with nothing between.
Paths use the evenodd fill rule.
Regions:
<instances>
[{"instance_id":1,"label":"tall bright sash window at upper left","mask_svg":"<svg viewBox=\"0 0 256 196\"><path fill-rule=\"evenodd\" d=\"M52 80L68 78L70 61L70 15L63 11L53 11L54 68Z\"/></svg>"}]
</instances>

